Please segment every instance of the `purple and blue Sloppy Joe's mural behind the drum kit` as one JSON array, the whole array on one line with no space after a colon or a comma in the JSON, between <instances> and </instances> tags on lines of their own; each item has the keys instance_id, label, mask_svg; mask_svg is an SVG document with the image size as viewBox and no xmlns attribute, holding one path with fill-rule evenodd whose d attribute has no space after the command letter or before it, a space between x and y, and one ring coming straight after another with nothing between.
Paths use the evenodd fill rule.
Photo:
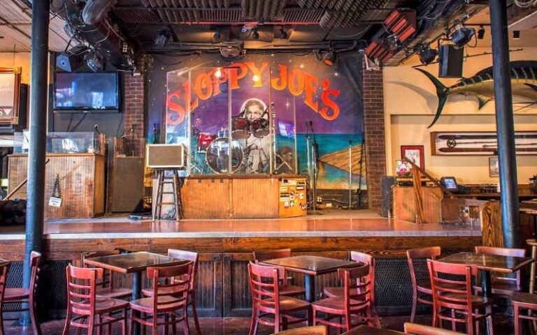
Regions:
<instances>
[{"instance_id":1,"label":"purple and blue Sloppy Joe's mural behind the drum kit","mask_svg":"<svg viewBox=\"0 0 537 335\"><path fill-rule=\"evenodd\" d=\"M155 57L148 80L150 124L188 147L191 175L311 175L316 162L318 188L348 188L349 171L365 188L358 54L332 67L314 54Z\"/></svg>"}]
</instances>

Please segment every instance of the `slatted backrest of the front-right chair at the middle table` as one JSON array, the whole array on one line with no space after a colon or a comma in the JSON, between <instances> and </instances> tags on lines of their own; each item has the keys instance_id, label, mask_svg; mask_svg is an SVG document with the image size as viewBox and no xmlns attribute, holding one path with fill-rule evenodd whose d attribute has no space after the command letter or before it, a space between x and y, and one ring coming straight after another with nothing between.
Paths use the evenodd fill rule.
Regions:
<instances>
[{"instance_id":1,"label":"slatted backrest of the front-right chair at the middle table","mask_svg":"<svg viewBox=\"0 0 537 335\"><path fill-rule=\"evenodd\" d=\"M350 318L351 311L371 304L371 271L369 265L344 267L338 269L338 276L343 281L345 314Z\"/></svg>"}]
</instances>

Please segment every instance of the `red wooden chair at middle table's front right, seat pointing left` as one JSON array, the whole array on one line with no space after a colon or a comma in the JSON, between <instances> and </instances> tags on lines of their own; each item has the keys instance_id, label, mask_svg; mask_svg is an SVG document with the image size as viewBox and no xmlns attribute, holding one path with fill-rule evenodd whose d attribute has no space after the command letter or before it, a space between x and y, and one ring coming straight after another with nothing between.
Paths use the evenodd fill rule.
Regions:
<instances>
[{"instance_id":1,"label":"red wooden chair at middle table's front right, seat pointing left","mask_svg":"<svg viewBox=\"0 0 537 335\"><path fill-rule=\"evenodd\" d=\"M346 331L358 325L373 326L369 265L338 269L338 276L343 281L343 296L313 302L313 325L320 323ZM317 318L317 312L326 313L326 318ZM358 322L352 323L352 316ZM344 323L341 317L345 318ZM331 321L332 318L339 318L340 322Z\"/></svg>"}]
</instances>

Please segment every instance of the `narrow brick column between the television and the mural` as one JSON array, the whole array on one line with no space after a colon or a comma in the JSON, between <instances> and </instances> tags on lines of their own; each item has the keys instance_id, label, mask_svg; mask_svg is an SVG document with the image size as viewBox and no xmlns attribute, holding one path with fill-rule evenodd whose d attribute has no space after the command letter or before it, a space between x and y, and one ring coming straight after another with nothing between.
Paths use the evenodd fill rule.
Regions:
<instances>
[{"instance_id":1,"label":"narrow brick column between the television and the mural","mask_svg":"<svg viewBox=\"0 0 537 335\"><path fill-rule=\"evenodd\" d=\"M124 74L124 134L127 138L127 154L143 156L145 145L145 75L144 61L140 61L138 69L142 75ZM134 131L134 132L133 132Z\"/></svg>"}]
</instances>

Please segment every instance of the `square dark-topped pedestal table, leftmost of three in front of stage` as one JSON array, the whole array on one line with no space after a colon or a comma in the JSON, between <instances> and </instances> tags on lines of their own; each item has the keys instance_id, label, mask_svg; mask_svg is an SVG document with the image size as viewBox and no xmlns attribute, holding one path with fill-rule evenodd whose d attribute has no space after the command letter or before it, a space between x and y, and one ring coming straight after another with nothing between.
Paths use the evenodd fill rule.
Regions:
<instances>
[{"instance_id":1,"label":"square dark-topped pedestal table, leftmost of three in front of stage","mask_svg":"<svg viewBox=\"0 0 537 335\"><path fill-rule=\"evenodd\" d=\"M158 253L147 253L145 251L141 251L138 253L121 253L119 255L86 258L84 262L87 265L102 267L111 271L120 272L121 274L132 274L132 299L136 300L141 298L142 271L148 267L181 265L189 262L189 260L180 260L177 258L159 255ZM140 334L140 325L137 322L134 323L133 330L134 334Z\"/></svg>"}]
</instances>

